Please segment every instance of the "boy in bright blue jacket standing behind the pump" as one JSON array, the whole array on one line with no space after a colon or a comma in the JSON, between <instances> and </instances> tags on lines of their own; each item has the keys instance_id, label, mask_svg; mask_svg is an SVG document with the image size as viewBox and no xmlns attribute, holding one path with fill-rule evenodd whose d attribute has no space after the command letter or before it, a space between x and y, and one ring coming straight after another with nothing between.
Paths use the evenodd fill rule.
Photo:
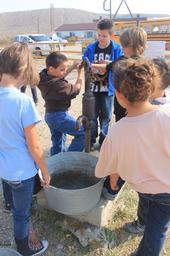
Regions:
<instances>
[{"instance_id":1,"label":"boy in bright blue jacket standing behind the pump","mask_svg":"<svg viewBox=\"0 0 170 256\"><path fill-rule=\"evenodd\" d=\"M97 23L98 40L88 45L82 59L88 57L91 63L97 64L104 60L114 61L122 56L122 47L111 40L111 37L114 35L113 32L113 20L100 20ZM94 120L91 130L91 150L94 149L94 143L96 143L96 138L98 137L98 117L100 123L99 144L102 145L103 140L108 134L114 95L113 73L111 71L97 71L98 73L92 76L91 81L91 91L94 93L95 98Z\"/></svg>"}]
</instances>

